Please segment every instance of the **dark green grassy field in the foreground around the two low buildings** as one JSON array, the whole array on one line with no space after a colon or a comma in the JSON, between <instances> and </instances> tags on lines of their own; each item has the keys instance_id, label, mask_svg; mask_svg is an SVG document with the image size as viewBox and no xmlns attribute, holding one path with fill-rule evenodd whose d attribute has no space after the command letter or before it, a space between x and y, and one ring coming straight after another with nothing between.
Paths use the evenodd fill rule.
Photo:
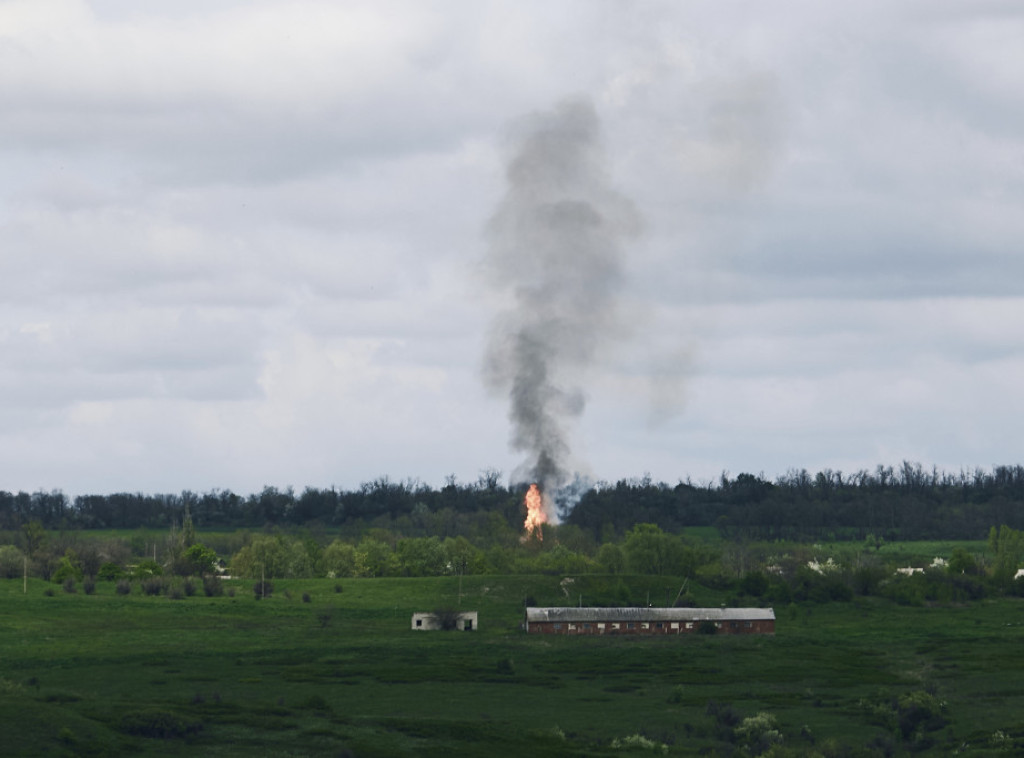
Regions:
<instances>
[{"instance_id":1,"label":"dark green grassy field in the foreground around the two low buildings","mask_svg":"<svg viewBox=\"0 0 1024 758\"><path fill-rule=\"evenodd\" d=\"M744 732L759 712L781 755L1024 748L1019 599L793 605L773 637L527 637L524 599L660 604L680 586L561 579L466 577L472 633L410 630L459 602L452 578L282 580L262 600L251 582L171 599L3 580L0 754L754 755L777 742Z\"/></svg>"}]
</instances>

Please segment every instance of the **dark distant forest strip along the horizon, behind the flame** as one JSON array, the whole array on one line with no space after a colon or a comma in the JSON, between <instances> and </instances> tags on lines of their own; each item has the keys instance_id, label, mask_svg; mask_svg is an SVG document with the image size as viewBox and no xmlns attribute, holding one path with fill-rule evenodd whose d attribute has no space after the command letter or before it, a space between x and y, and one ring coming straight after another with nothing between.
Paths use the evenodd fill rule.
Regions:
<instances>
[{"instance_id":1,"label":"dark distant forest strip along the horizon, behind the flame","mask_svg":"<svg viewBox=\"0 0 1024 758\"><path fill-rule=\"evenodd\" d=\"M475 482L449 477L439 489L380 477L357 490L267 487L248 496L226 490L176 495L81 495L0 491L0 530L38 521L50 530L153 529L180 523L187 508L199 529L383 527L441 537L500 516L522 523L525 487L505 487L486 471ZM723 473L717 481L676 485L649 477L598 482L574 504L561 503L563 522L604 542L637 523L666 532L714 527L729 539L886 540L985 539L993 524L1024 529L1024 467L949 473L904 462L843 474L792 470L774 480Z\"/></svg>"}]
</instances>

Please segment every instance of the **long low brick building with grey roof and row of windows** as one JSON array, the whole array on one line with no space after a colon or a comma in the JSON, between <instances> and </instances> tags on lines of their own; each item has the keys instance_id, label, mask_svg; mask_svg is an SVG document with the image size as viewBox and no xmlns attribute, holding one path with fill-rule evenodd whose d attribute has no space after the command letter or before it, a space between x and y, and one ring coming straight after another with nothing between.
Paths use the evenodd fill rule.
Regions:
<instances>
[{"instance_id":1,"label":"long low brick building with grey roof and row of windows","mask_svg":"<svg viewBox=\"0 0 1024 758\"><path fill-rule=\"evenodd\" d=\"M527 607L527 634L774 634L772 608Z\"/></svg>"}]
</instances>

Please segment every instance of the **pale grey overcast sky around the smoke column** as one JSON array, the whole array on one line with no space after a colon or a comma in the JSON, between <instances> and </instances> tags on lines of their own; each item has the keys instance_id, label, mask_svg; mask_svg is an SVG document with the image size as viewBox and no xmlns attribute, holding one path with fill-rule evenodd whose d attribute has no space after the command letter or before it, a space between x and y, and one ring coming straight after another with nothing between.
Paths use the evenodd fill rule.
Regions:
<instances>
[{"instance_id":1,"label":"pale grey overcast sky around the smoke column","mask_svg":"<svg viewBox=\"0 0 1024 758\"><path fill-rule=\"evenodd\" d=\"M1024 462L1021 39L1015 0L0 0L0 490L508 479L487 228L565 102L638 219L572 471Z\"/></svg>"}]
</instances>

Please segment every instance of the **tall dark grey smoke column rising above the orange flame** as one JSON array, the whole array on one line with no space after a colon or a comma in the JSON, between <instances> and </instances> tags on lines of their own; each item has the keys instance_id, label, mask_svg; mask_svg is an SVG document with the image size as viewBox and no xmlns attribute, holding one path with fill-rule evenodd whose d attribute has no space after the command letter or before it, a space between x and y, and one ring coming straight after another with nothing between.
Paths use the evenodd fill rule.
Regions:
<instances>
[{"instance_id":1,"label":"tall dark grey smoke column rising above the orange flame","mask_svg":"<svg viewBox=\"0 0 1024 758\"><path fill-rule=\"evenodd\" d=\"M539 482L552 516L587 369L617 336L623 244L639 226L606 176L599 126L585 100L519 124L508 191L486 227L485 264L511 304L492 326L484 377L508 394L511 445L528 456L513 479Z\"/></svg>"}]
</instances>

